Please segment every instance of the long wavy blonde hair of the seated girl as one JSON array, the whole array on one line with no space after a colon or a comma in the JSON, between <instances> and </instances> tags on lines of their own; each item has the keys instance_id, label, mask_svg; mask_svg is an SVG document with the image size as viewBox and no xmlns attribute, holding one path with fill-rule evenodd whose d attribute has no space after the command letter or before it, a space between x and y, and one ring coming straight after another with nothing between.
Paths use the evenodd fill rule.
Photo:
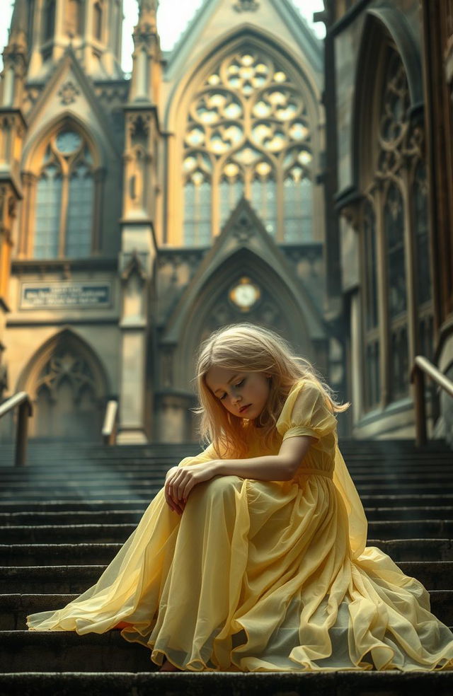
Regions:
<instances>
[{"instance_id":1,"label":"long wavy blonde hair of the seated girl","mask_svg":"<svg viewBox=\"0 0 453 696\"><path fill-rule=\"evenodd\" d=\"M226 410L206 383L212 366L241 372L265 372L271 375L268 402L255 424ZM195 380L200 406L193 411L200 415L198 431L205 443L212 443L220 458L241 458L246 454L248 434L260 427L265 446L272 446L277 434L275 424L289 391L301 378L316 383L333 412L344 411L333 391L308 360L297 356L277 333L248 322L231 324L214 331L200 345Z\"/></svg>"}]
</instances>

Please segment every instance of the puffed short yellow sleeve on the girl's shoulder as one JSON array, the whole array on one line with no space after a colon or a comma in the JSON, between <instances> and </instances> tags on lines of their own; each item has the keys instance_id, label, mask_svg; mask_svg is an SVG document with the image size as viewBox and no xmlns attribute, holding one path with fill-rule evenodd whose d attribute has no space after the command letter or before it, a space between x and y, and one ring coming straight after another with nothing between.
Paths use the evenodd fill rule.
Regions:
<instances>
[{"instance_id":1,"label":"puffed short yellow sleeve on the girl's shoulder","mask_svg":"<svg viewBox=\"0 0 453 696\"><path fill-rule=\"evenodd\" d=\"M325 395L316 383L306 380L299 381L289 392L276 424L284 440L297 435L321 439L336 426L337 419Z\"/></svg>"}]
</instances>

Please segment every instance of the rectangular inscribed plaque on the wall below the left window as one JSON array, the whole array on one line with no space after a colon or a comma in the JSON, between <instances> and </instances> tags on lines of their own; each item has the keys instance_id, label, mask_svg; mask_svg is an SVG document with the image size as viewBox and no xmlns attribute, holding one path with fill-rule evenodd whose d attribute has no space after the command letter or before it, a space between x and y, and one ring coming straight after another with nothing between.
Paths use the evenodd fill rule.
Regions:
<instances>
[{"instance_id":1,"label":"rectangular inscribed plaque on the wall below the left window","mask_svg":"<svg viewBox=\"0 0 453 696\"><path fill-rule=\"evenodd\" d=\"M111 294L108 282L23 283L21 309L109 307Z\"/></svg>"}]
</instances>

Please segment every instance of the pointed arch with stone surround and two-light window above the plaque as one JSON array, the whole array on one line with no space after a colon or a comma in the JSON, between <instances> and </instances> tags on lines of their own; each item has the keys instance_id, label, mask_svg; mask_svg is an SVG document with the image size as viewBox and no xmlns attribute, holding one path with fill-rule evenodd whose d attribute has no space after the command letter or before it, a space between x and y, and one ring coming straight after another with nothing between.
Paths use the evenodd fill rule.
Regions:
<instances>
[{"instance_id":1,"label":"pointed arch with stone surround and two-light window above the plaque","mask_svg":"<svg viewBox=\"0 0 453 696\"><path fill-rule=\"evenodd\" d=\"M79 119L47 124L25 153L20 247L26 257L87 257L98 246L100 153Z\"/></svg>"}]
</instances>

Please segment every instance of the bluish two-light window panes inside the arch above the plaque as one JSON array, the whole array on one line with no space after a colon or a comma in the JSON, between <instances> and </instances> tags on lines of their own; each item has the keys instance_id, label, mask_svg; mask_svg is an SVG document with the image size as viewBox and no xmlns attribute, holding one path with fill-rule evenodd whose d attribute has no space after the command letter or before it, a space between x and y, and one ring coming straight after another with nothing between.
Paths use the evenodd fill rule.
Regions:
<instances>
[{"instance_id":1,"label":"bluish two-light window panes inside the arch above the plaque","mask_svg":"<svg viewBox=\"0 0 453 696\"><path fill-rule=\"evenodd\" d=\"M35 258L91 254L93 160L83 137L65 127L53 134L38 178Z\"/></svg>"}]
</instances>

